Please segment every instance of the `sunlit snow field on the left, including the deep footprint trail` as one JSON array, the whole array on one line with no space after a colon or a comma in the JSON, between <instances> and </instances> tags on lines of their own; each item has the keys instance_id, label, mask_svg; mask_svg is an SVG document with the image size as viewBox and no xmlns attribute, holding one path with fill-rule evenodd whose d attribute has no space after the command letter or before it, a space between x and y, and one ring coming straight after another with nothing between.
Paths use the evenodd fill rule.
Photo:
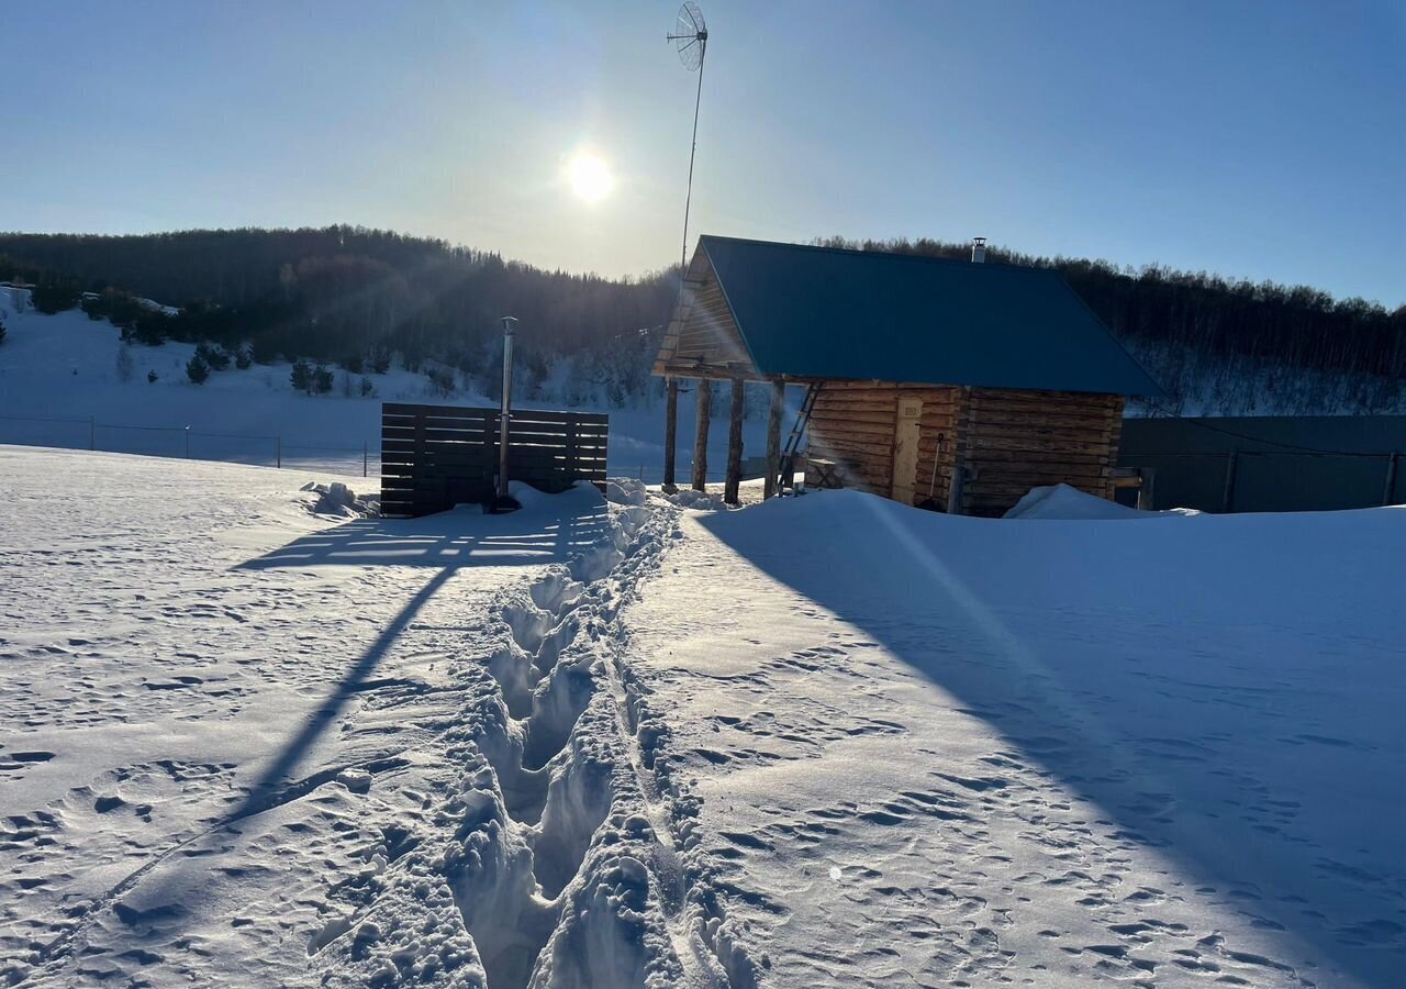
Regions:
<instances>
[{"instance_id":1,"label":"sunlit snow field on the left, including the deep footprint trail","mask_svg":"<svg viewBox=\"0 0 1406 989\"><path fill-rule=\"evenodd\" d=\"M0 447L0 982L668 983L595 689L648 511L347 522L308 480Z\"/></svg>"}]
</instances>

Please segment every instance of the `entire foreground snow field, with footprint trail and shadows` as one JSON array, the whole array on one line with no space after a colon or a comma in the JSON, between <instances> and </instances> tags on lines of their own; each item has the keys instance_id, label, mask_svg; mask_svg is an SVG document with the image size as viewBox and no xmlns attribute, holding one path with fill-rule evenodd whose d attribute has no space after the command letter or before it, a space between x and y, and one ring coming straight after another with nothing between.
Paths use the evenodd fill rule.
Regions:
<instances>
[{"instance_id":1,"label":"entire foreground snow field, with footprint trail and shadows","mask_svg":"<svg viewBox=\"0 0 1406 989\"><path fill-rule=\"evenodd\" d=\"M1400 983L1406 509L312 480L0 447L0 982Z\"/></svg>"}]
</instances>

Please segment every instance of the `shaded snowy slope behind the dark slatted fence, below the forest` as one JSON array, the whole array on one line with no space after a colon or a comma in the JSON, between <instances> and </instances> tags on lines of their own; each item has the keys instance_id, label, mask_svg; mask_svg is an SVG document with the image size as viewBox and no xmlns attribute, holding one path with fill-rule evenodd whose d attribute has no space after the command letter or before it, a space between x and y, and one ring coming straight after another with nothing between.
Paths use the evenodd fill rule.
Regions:
<instances>
[{"instance_id":1,"label":"shaded snowy slope behind the dark slatted fence, below the forest","mask_svg":"<svg viewBox=\"0 0 1406 989\"><path fill-rule=\"evenodd\" d=\"M127 346L108 321L89 319L80 310L44 315L27 305L24 290L0 288L0 321L7 336L0 345L0 443L60 446L190 456L361 473L361 450L370 473L378 473L381 402L406 401L450 405L494 405L482 395L436 395L425 374L394 367L367 374L374 395L361 397L361 376L337 370L330 394L305 395L290 385L290 364L231 366L205 384L193 384L186 363L195 347L165 343ZM118 355L131 356L122 380ZM157 380L148 381L155 371ZM350 391L350 394L347 394ZM548 402L523 407L554 408ZM714 402L725 414L727 402ZM664 461L664 409L599 408L610 415L610 470L658 480ZM97 423L90 426L90 416ZM692 395L679 402L679 470L692 463ZM51 419L37 422L35 419ZM53 422L66 419L67 422ZM191 428L187 439L186 426ZM281 442L273 438L280 438ZM748 456L765 450L765 422L748 421ZM709 463L718 473L727 456L727 423L714 423Z\"/></svg>"}]
</instances>

